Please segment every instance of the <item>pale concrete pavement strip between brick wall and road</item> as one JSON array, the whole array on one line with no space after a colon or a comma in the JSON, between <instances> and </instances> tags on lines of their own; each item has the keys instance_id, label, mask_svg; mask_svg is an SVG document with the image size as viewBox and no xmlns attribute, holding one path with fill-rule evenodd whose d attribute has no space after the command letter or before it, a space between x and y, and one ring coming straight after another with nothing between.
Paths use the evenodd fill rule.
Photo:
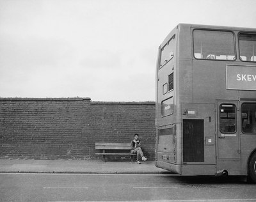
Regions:
<instances>
[{"instance_id":1,"label":"pale concrete pavement strip between brick wall and road","mask_svg":"<svg viewBox=\"0 0 256 202\"><path fill-rule=\"evenodd\" d=\"M0 159L0 173L170 174L153 161Z\"/></svg>"}]
</instances>

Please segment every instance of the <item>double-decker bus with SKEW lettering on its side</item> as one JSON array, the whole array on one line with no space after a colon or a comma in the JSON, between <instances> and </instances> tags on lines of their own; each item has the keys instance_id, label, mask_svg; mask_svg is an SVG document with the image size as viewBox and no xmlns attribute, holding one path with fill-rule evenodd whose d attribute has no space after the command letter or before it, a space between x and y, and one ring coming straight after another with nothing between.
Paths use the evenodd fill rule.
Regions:
<instances>
[{"instance_id":1,"label":"double-decker bus with SKEW lettering on its side","mask_svg":"<svg viewBox=\"0 0 256 202\"><path fill-rule=\"evenodd\" d=\"M256 29L179 24L159 46L156 160L256 182Z\"/></svg>"}]
</instances>

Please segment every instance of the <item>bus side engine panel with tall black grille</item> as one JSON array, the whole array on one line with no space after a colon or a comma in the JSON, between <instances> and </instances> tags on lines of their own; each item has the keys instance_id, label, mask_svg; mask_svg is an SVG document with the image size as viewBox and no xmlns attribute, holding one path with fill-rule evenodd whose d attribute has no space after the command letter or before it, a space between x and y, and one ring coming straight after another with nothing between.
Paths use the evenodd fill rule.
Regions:
<instances>
[{"instance_id":1,"label":"bus side engine panel with tall black grille","mask_svg":"<svg viewBox=\"0 0 256 202\"><path fill-rule=\"evenodd\" d=\"M214 104L182 104L183 162L216 164Z\"/></svg>"}]
</instances>

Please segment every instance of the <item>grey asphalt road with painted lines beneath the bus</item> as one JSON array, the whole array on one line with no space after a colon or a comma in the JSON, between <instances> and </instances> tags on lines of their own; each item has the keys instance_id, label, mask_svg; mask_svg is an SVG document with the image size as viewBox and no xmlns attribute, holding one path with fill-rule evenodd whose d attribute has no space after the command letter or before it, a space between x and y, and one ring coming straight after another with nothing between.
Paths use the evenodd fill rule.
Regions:
<instances>
[{"instance_id":1,"label":"grey asphalt road with painted lines beneath the bus","mask_svg":"<svg viewBox=\"0 0 256 202\"><path fill-rule=\"evenodd\" d=\"M1 201L256 201L240 178L175 175L0 174Z\"/></svg>"}]
</instances>

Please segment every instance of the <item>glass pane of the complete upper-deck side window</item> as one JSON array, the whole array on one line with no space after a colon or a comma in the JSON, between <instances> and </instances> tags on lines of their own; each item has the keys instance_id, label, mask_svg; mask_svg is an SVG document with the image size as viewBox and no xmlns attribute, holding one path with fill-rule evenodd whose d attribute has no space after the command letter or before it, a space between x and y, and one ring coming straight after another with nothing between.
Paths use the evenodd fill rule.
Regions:
<instances>
[{"instance_id":1,"label":"glass pane of the complete upper-deck side window","mask_svg":"<svg viewBox=\"0 0 256 202\"><path fill-rule=\"evenodd\" d=\"M193 31L194 56L196 59L236 59L234 35L230 31Z\"/></svg>"}]
</instances>

